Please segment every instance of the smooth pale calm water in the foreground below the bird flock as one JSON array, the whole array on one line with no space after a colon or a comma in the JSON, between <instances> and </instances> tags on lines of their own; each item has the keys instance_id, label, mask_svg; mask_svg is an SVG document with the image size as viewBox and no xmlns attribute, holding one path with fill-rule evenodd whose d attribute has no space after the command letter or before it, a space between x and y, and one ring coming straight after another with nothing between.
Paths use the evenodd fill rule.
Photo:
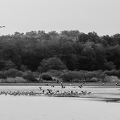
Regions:
<instances>
[{"instance_id":1,"label":"smooth pale calm water in the foreground below the bird flock","mask_svg":"<svg viewBox=\"0 0 120 120\"><path fill-rule=\"evenodd\" d=\"M120 103L0 96L0 120L120 120Z\"/></svg>"}]
</instances>

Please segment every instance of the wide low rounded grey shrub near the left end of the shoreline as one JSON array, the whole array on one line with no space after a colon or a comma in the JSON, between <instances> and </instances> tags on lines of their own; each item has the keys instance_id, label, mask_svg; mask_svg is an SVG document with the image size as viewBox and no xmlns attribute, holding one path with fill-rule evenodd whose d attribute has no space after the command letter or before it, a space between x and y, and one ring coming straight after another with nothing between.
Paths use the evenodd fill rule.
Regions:
<instances>
[{"instance_id":1,"label":"wide low rounded grey shrub near the left end of the shoreline","mask_svg":"<svg viewBox=\"0 0 120 120\"><path fill-rule=\"evenodd\" d=\"M23 75L21 71L14 69L14 68L6 70L4 73L7 77L12 77L12 78L21 77Z\"/></svg>"}]
</instances>

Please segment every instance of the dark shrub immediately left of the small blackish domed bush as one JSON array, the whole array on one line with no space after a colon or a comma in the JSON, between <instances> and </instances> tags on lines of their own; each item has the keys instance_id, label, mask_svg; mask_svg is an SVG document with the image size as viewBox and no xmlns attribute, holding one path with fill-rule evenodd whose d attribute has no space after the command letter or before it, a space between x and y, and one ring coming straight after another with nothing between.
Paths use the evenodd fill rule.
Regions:
<instances>
[{"instance_id":1,"label":"dark shrub immediately left of the small blackish domed bush","mask_svg":"<svg viewBox=\"0 0 120 120\"><path fill-rule=\"evenodd\" d=\"M26 79L28 82L37 82L37 79L35 78L31 71L25 72L23 74L23 78Z\"/></svg>"}]
</instances>

